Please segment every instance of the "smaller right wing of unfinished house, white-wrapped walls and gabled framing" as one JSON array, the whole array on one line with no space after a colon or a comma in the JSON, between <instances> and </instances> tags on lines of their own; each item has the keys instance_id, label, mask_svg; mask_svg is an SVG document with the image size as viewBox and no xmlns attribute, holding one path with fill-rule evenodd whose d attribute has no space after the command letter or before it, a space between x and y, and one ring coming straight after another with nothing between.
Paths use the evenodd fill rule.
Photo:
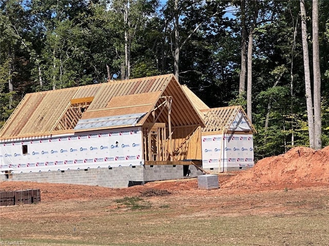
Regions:
<instances>
[{"instance_id":1,"label":"smaller right wing of unfinished house, white-wrapped walls and gabled framing","mask_svg":"<svg viewBox=\"0 0 329 246\"><path fill-rule=\"evenodd\" d=\"M255 129L241 106L210 109L182 86L205 121L202 128L202 166L213 172L253 167Z\"/></svg>"}]
</instances>

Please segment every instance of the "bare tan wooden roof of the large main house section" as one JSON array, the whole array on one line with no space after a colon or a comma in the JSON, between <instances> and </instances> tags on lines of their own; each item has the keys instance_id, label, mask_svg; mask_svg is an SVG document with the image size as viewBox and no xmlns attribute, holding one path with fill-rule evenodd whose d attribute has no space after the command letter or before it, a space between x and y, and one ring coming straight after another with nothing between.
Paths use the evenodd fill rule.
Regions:
<instances>
[{"instance_id":1,"label":"bare tan wooden roof of the large main house section","mask_svg":"<svg viewBox=\"0 0 329 246\"><path fill-rule=\"evenodd\" d=\"M0 139L35 137L41 133L56 135L62 132L55 129L61 128L57 126L66 112L70 122L76 124L78 111L74 110L71 102L85 98L94 99L82 118L147 112L141 122L152 122L154 117L151 117L151 112L163 102L160 96L173 98L170 118L172 126L203 124L203 119L191 105L174 75L166 74L27 94L0 130ZM72 111L68 112L70 107L73 107ZM159 112L159 109L155 111L155 117L168 124L168 109L163 109L161 114Z\"/></svg>"}]
</instances>

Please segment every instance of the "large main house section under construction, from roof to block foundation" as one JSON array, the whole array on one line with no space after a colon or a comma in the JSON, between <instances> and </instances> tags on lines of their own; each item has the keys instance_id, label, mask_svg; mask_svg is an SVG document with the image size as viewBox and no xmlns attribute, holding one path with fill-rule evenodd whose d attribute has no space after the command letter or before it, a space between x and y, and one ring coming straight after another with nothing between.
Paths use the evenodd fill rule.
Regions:
<instances>
[{"instance_id":1,"label":"large main house section under construction, from roof to block foundation","mask_svg":"<svg viewBox=\"0 0 329 246\"><path fill-rule=\"evenodd\" d=\"M126 187L197 176L203 126L173 74L29 93L0 130L0 179Z\"/></svg>"}]
</instances>

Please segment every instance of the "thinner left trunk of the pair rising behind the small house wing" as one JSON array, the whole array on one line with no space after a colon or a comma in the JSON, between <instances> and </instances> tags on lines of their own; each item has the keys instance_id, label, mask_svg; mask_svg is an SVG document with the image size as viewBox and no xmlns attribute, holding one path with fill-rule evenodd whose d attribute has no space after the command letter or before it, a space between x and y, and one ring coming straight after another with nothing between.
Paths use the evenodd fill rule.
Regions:
<instances>
[{"instance_id":1,"label":"thinner left trunk of the pair rising behind the small house wing","mask_svg":"<svg viewBox=\"0 0 329 246\"><path fill-rule=\"evenodd\" d=\"M246 15L245 15L245 1L241 1L241 72L239 83L239 95L243 95L246 86L246 47L247 47L247 33L246 33Z\"/></svg>"}]
</instances>

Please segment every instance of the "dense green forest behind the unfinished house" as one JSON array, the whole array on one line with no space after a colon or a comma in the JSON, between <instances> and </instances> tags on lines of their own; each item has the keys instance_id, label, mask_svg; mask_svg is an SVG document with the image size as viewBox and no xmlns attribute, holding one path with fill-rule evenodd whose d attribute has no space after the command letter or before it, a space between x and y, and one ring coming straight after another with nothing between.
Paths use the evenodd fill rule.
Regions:
<instances>
[{"instance_id":1,"label":"dense green forest behind the unfinished house","mask_svg":"<svg viewBox=\"0 0 329 246\"><path fill-rule=\"evenodd\" d=\"M313 3L2 0L0 126L26 93L174 73L209 107L248 111L258 131L255 160L310 146L306 100L313 97L305 86L302 20L312 90ZM329 1L316 4L327 146Z\"/></svg>"}]
</instances>

